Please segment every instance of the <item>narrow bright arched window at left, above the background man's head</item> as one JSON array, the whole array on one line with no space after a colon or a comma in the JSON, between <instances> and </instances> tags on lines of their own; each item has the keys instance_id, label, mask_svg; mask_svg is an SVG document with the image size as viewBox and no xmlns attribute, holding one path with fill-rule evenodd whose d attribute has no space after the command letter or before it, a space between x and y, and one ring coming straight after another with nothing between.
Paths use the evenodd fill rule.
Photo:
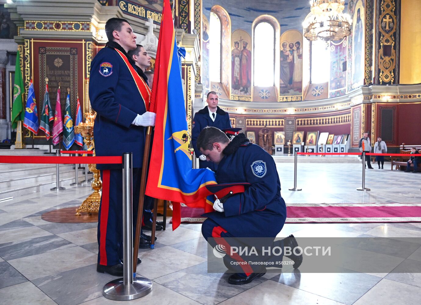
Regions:
<instances>
[{"instance_id":1,"label":"narrow bright arched window at left, above the background man's head","mask_svg":"<svg viewBox=\"0 0 421 305\"><path fill-rule=\"evenodd\" d=\"M209 74L211 82L221 82L221 20L210 12L209 20Z\"/></svg>"}]
</instances>

